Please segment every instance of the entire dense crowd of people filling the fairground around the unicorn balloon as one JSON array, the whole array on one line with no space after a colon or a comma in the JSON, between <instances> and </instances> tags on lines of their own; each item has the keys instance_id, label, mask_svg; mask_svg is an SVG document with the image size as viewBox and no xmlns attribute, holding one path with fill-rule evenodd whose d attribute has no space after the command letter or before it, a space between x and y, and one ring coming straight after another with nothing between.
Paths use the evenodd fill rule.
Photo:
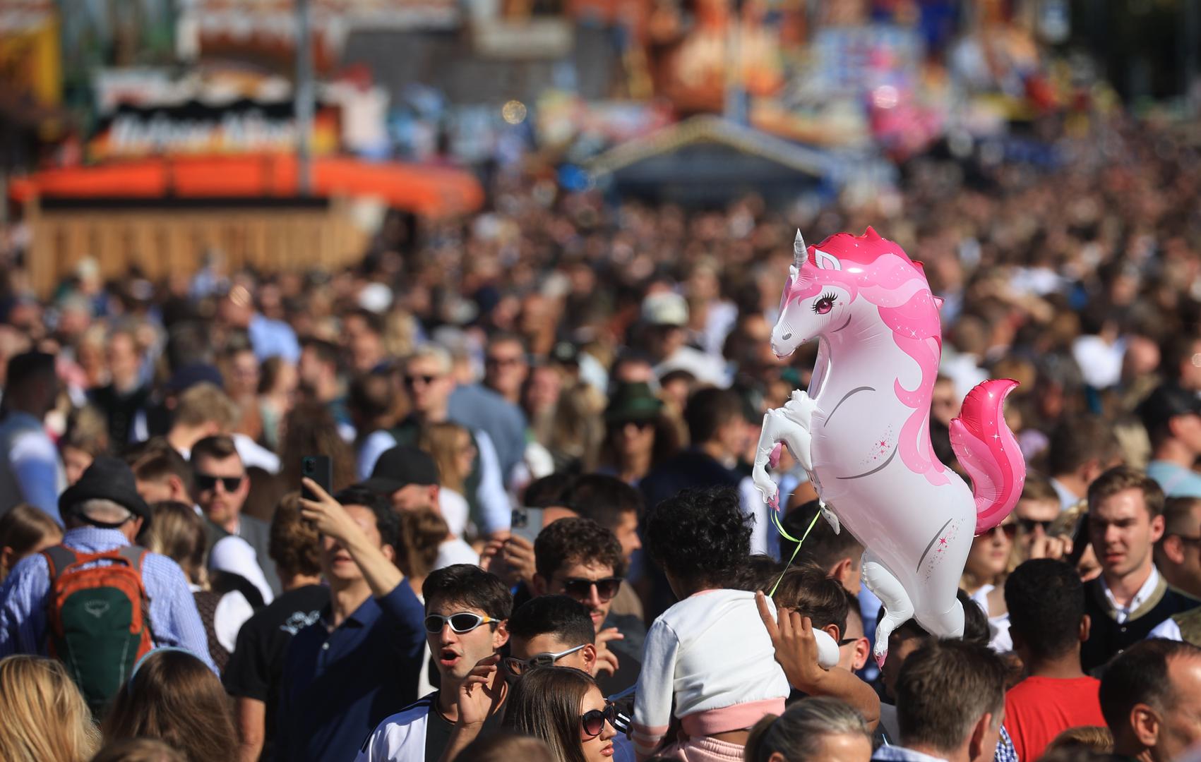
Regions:
<instances>
[{"instance_id":1,"label":"entire dense crowd of people filling the fairground around the unicorn balloon","mask_svg":"<svg viewBox=\"0 0 1201 762\"><path fill-rule=\"evenodd\" d=\"M500 173L337 272L48 298L0 246L0 757L1187 758L1201 742L1201 151L1064 130L1053 167L896 192L613 203ZM944 299L930 418L1021 382L1028 478L962 638L871 658L864 547L759 426L800 227L867 224ZM787 536L806 535L796 542Z\"/></svg>"}]
</instances>

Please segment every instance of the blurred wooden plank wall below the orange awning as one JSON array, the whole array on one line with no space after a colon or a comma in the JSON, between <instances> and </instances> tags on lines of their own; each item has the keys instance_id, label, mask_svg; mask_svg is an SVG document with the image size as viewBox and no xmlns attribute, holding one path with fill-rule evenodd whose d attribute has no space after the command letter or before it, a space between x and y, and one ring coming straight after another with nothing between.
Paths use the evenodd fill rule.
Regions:
<instances>
[{"instance_id":1,"label":"blurred wooden plank wall below the orange awning","mask_svg":"<svg viewBox=\"0 0 1201 762\"><path fill-rule=\"evenodd\" d=\"M335 270L358 262L368 244L340 199L328 209L42 210L34 202L25 218L31 284L43 298L89 256L106 278L126 277L137 265L157 282L196 271L213 250L229 270Z\"/></svg>"}]
</instances>

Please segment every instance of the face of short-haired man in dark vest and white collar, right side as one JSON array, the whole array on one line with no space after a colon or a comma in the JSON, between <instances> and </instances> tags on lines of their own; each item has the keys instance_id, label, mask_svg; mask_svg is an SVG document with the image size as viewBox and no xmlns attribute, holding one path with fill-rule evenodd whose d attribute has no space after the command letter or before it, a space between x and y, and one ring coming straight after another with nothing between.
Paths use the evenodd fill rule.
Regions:
<instances>
[{"instance_id":1,"label":"face of short-haired man in dark vest and white collar, right side","mask_svg":"<svg viewBox=\"0 0 1201 762\"><path fill-rule=\"evenodd\" d=\"M1151 565L1152 545L1164 534L1164 517L1152 518L1142 490L1130 487L1098 502L1088 515L1088 538L1107 578Z\"/></svg>"}]
</instances>

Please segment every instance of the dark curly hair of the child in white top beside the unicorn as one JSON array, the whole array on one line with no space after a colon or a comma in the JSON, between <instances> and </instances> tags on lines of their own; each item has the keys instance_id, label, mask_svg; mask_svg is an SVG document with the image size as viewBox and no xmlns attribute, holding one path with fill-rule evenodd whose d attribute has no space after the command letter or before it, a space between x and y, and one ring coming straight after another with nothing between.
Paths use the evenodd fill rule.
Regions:
<instances>
[{"instance_id":1,"label":"dark curly hair of the child in white top beside the unicorn","mask_svg":"<svg viewBox=\"0 0 1201 762\"><path fill-rule=\"evenodd\" d=\"M676 578L723 587L751 554L753 522L730 487L683 490L647 515L646 544Z\"/></svg>"}]
</instances>

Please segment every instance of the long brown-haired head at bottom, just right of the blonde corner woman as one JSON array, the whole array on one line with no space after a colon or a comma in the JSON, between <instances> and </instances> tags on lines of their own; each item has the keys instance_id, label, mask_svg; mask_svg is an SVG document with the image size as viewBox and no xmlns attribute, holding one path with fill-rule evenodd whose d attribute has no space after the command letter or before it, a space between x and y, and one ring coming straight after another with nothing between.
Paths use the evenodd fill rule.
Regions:
<instances>
[{"instance_id":1,"label":"long brown-haired head at bottom, just right of the blonde corner woman","mask_svg":"<svg viewBox=\"0 0 1201 762\"><path fill-rule=\"evenodd\" d=\"M147 654L116 692L101 727L107 743L160 738L191 762L233 760L238 750L221 680L183 649L160 648Z\"/></svg>"}]
</instances>

